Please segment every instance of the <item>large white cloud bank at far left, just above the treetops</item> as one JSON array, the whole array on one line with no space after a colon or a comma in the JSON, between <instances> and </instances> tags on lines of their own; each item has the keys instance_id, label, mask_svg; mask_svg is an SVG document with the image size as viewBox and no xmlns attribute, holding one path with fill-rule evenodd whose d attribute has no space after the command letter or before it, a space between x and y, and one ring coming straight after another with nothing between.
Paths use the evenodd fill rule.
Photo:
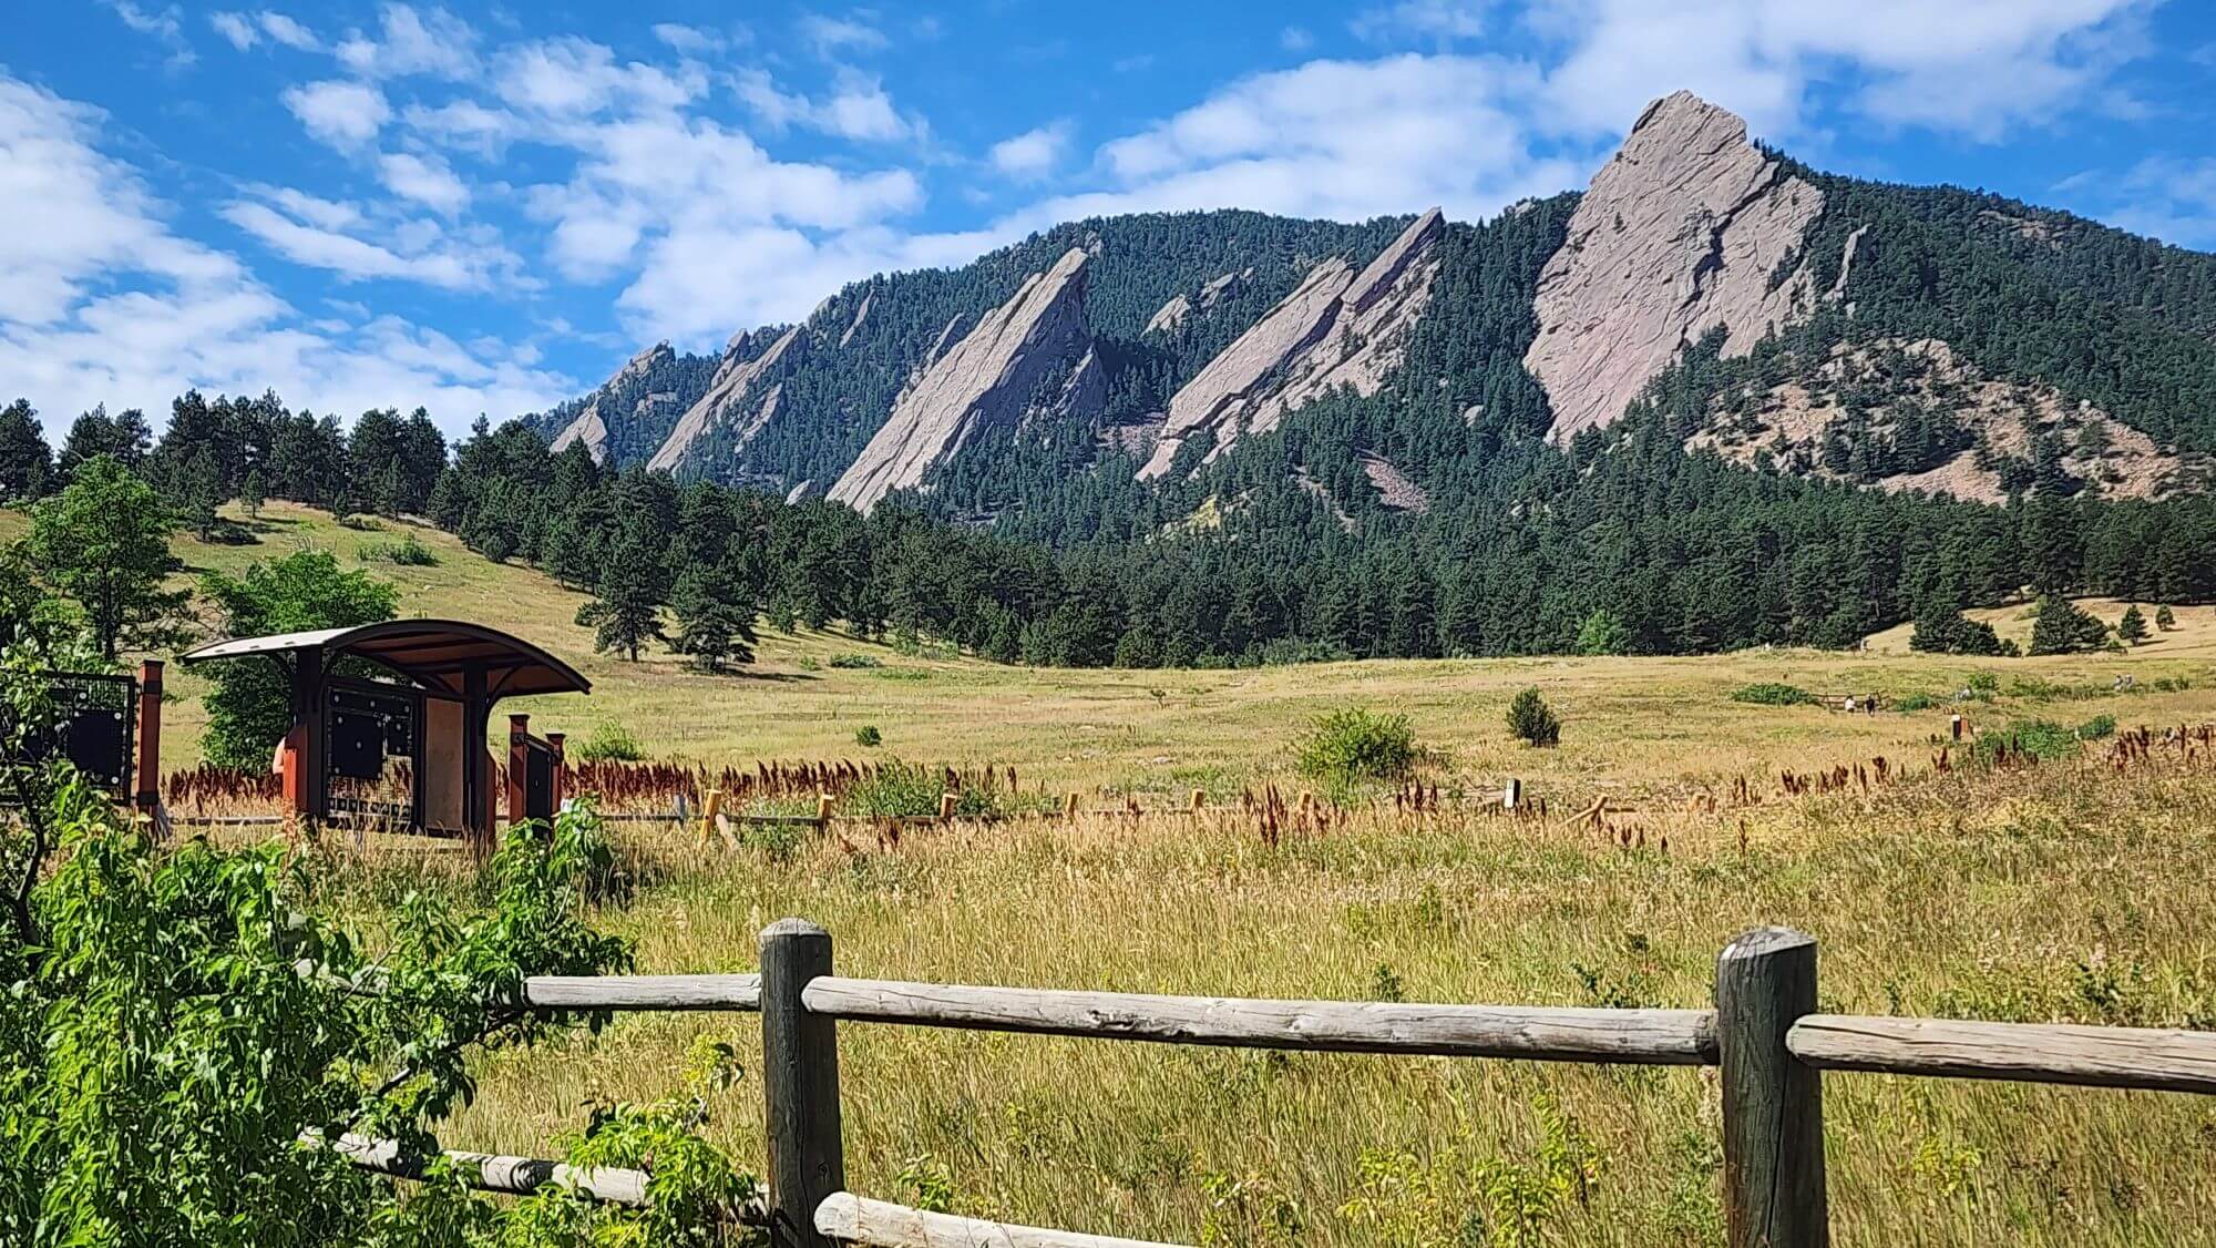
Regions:
<instances>
[{"instance_id":1,"label":"large white cloud bank at far left, just above the treetops","mask_svg":"<svg viewBox=\"0 0 2216 1248\"><path fill-rule=\"evenodd\" d=\"M359 412L423 403L448 432L479 412L505 419L576 392L532 348L456 348L437 330L368 319L304 321L230 255L179 239L135 168L98 149L104 115L0 75L0 377L49 434L91 408L155 421L186 388ZM293 206L326 224L350 208ZM366 324L363 324L366 321Z\"/></svg>"}]
</instances>

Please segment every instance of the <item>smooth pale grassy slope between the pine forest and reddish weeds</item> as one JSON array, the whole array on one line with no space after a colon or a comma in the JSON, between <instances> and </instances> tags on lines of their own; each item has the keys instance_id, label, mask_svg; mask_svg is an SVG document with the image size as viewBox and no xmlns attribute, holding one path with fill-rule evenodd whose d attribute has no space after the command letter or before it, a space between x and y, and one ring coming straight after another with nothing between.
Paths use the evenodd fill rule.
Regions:
<instances>
[{"instance_id":1,"label":"smooth pale grassy slope between the pine forest and reddish weeds","mask_svg":"<svg viewBox=\"0 0 2216 1248\"><path fill-rule=\"evenodd\" d=\"M0 539L20 516L0 516ZM1999 676L1999 698L1968 707L1972 723L2096 714L2174 723L2216 716L2216 607L2178 607L2176 632L2121 656L1963 661L1906 652L1906 630L1873 638L1870 654L1810 649L1693 658L1514 658L1369 661L1234 672L1101 672L1002 667L973 658L911 658L842 632L784 636L762 630L760 661L742 674L702 676L674 654L640 663L592 652L574 623L583 594L530 567L496 565L452 536L381 521L381 532L341 528L332 516L273 503L248 525L250 545L177 539L195 572L242 570L299 548L324 548L343 565L368 567L401 587L401 612L510 630L567 658L594 683L592 696L505 703L532 712L541 729L587 736L601 723L629 727L652 754L702 763L753 758L853 758L862 754L944 763L1015 765L1024 785L1183 794L1279 778L1290 782L1290 747L1325 709L1363 703L1405 712L1440 758L1440 774L1494 785L1525 776L1562 798L1596 791L1675 796L1728 785L1740 774L1810 771L1877 754L1921 758L1943 732L1948 694L1974 672ZM363 548L414 534L439 563L363 563ZM2121 605L2087 603L2114 621ZM2023 607L1974 612L2008 634L2030 632ZM880 667L833 667L862 654ZM2112 694L2116 676L2138 692ZM2163 676L2192 683L2154 692ZM1846 716L1828 707L1733 703L1746 683L1782 681L1815 694L1930 694L1941 705L1915 714ZM1509 740L1502 712L1516 689L1538 685L1562 714L1562 747L1531 751ZM202 683L173 681L171 765L197 758ZM855 729L875 725L884 745L864 751Z\"/></svg>"}]
</instances>

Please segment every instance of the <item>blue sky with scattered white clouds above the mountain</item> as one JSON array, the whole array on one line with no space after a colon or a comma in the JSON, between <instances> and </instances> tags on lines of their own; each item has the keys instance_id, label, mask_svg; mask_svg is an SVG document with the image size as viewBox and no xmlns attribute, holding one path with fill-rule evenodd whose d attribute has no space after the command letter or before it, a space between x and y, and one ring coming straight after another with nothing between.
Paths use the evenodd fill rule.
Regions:
<instances>
[{"instance_id":1,"label":"blue sky with scattered white clouds above the mountain","mask_svg":"<svg viewBox=\"0 0 2216 1248\"><path fill-rule=\"evenodd\" d=\"M1478 219L1680 86L1841 173L2216 246L2200 0L13 0L0 399L448 430L1059 219Z\"/></svg>"}]
</instances>

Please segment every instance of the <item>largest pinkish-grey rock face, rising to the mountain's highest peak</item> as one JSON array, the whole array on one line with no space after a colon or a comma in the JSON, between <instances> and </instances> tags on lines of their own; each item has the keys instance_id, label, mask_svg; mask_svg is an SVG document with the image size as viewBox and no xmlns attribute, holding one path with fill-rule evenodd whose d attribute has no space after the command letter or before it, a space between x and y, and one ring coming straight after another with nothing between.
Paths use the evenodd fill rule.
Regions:
<instances>
[{"instance_id":1,"label":"largest pinkish-grey rock face, rising to the mountain's highest peak","mask_svg":"<svg viewBox=\"0 0 2216 1248\"><path fill-rule=\"evenodd\" d=\"M1593 175L1538 279L1525 366L1567 441L1624 412L1689 341L1724 326L1746 355L1813 299L1806 268L1771 286L1824 193L1746 142L1746 122L1680 91L1646 106Z\"/></svg>"}]
</instances>

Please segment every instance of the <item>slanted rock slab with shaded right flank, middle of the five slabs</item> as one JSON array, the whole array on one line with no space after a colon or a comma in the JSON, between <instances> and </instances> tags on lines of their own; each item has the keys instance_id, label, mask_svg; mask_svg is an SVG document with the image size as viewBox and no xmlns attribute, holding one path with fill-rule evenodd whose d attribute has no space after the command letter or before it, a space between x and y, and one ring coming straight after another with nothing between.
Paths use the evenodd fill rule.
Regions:
<instances>
[{"instance_id":1,"label":"slanted rock slab with shaded right flank, middle of the five slabs","mask_svg":"<svg viewBox=\"0 0 2216 1248\"><path fill-rule=\"evenodd\" d=\"M889 492L920 485L988 428L1035 412L1099 412L1106 375L1086 330L1086 262L1084 248L1070 248L962 341L933 352L829 497L866 512Z\"/></svg>"}]
</instances>

